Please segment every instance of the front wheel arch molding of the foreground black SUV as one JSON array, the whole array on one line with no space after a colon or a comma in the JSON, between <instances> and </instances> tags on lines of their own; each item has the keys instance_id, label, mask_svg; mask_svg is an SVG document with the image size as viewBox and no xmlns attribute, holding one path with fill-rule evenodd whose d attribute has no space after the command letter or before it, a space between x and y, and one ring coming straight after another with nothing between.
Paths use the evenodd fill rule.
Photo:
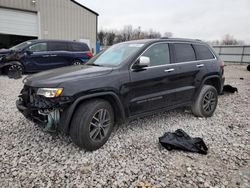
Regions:
<instances>
[{"instance_id":1,"label":"front wheel arch molding of the foreground black SUV","mask_svg":"<svg viewBox=\"0 0 250 188\"><path fill-rule=\"evenodd\" d=\"M103 99L111 104L114 110L116 123L120 123L125 120L125 111L119 97L114 92L101 92L79 97L69 107L66 107L60 119L59 129L68 134L75 110L86 100L93 99Z\"/></svg>"}]
</instances>

